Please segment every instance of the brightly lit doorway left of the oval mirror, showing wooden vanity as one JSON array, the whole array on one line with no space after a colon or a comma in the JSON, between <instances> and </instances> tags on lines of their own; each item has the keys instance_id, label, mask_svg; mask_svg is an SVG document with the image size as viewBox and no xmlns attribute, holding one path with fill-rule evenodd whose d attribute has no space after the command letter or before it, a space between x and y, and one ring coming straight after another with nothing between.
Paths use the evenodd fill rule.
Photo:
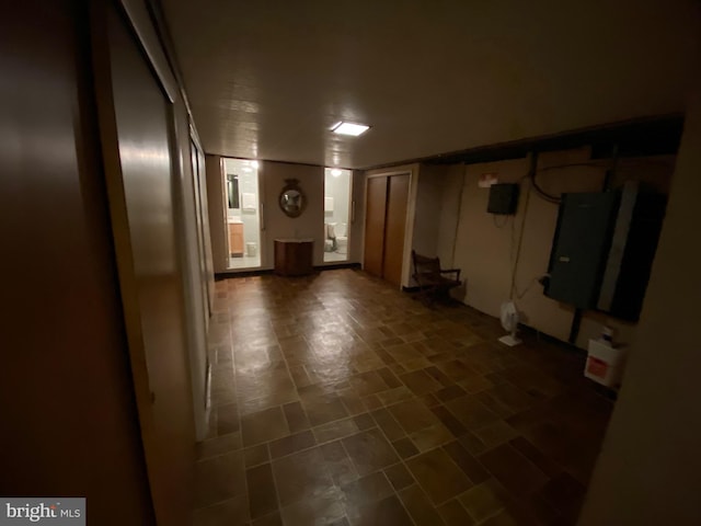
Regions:
<instances>
[{"instance_id":1,"label":"brightly lit doorway left of the oval mirror, showing wooden vanity","mask_svg":"<svg viewBox=\"0 0 701 526\"><path fill-rule=\"evenodd\" d=\"M261 267L258 161L223 160L229 268Z\"/></svg>"}]
</instances>

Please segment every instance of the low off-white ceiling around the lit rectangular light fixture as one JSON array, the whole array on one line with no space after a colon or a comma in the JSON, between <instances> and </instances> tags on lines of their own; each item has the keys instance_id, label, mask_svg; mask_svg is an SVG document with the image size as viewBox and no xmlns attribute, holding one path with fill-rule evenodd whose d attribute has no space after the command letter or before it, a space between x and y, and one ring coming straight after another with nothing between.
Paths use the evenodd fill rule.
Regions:
<instances>
[{"instance_id":1,"label":"low off-white ceiling around the lit rectangular light fixture","mask_svg":"<svg viewBox=\"0 0 701 526\"><path fill-rule=\"evenodd\" d=\"M700 69L694 0L161 3L204 148L230 157L368 168L668 114Z\"/></svg>"}]
</instances>

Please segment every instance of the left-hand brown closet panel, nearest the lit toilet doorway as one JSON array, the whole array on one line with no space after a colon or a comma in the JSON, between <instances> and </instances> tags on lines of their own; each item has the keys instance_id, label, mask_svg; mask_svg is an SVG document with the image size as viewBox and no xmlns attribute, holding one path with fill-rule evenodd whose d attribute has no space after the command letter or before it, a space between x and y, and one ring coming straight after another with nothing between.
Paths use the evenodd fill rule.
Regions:
<instances>
[{"instance_id":1,"label":"left-hand brown closet panel, nearest the lit toilet doorway","mask_svg":"<svg viewBox=\"0 0 701 526\"><path fill-rule=\"evenodd\" d=\"M386 211L387 178L369 178L365 213L365 255L363 268L378 277L382 277Z\"/></svg>"}]
</instances>

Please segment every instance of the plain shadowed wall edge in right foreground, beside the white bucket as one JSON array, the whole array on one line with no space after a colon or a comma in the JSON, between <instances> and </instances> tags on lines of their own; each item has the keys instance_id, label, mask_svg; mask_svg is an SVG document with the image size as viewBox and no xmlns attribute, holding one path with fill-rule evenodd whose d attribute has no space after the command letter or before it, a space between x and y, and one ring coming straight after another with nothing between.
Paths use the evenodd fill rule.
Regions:
<instances>
[{"instance_id":1,"label":"plain shadowed wall edge in right foreground, beside the white bucket","mask_svg":"<svg viewBox=\"0 0 701 526\"><path fill-rule=\"evenodd\" d=\"M701 92L687 114L667 218L582 526L701 524Z\"/></svg>"}]
</instances>

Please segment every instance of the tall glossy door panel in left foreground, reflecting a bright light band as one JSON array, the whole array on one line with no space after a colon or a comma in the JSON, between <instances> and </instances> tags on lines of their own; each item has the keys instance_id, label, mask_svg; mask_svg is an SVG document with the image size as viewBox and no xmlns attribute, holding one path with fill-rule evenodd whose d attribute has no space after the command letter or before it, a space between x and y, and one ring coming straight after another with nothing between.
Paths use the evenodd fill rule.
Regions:
<instances>
[{"instance_id":1,"label":"tall glossy door panel in left foreground, reflecting a bright light band","mask_svg":"<svg viewBox=\"0 0 701 526\"><path fill-rule=\"evenodd\" d=\"M195 425L174 217L173 107L126 20L104 9L94 32L97 108L145 458L157 523L185 526Z\"/></svg>"}]
</instances>

